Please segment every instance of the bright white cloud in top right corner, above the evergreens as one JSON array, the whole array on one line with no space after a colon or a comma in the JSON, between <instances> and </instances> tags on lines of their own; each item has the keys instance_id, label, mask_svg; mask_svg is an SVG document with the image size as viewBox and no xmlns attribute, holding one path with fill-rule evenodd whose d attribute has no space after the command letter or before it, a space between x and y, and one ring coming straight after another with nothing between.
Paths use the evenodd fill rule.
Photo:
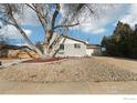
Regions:
<instances>
[{"instance_id":1,"label":"bright white cloud in top right corner, above the evergreens","mask_svg":"<svg viewBox=\"0 0 137 103\"><path fill-rule=\"evenodd\" d=\"M130 4L127 14L120 18L120 21L134 27L137 23L137 4Z\"/></svg>"}]
</instances>

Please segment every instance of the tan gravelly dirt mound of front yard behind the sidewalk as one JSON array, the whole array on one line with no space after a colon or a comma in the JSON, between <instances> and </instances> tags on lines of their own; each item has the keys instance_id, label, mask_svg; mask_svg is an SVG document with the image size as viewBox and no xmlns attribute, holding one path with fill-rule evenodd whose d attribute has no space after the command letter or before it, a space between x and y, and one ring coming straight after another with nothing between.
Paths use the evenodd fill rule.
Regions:
<instances>
[{"instance_id":1,"label":"tan gravelly dirt mound of front yard behind the sidewalk","mask_svg":"<svg viewBox=\"0 0 137 103\"><path fill-rule=\"evenodd\" d=\"M136 81L137 73L95 59L68 59L49 63L22 63L0 70L0 79L27 82Z\"/></svg>"}]
</instances>

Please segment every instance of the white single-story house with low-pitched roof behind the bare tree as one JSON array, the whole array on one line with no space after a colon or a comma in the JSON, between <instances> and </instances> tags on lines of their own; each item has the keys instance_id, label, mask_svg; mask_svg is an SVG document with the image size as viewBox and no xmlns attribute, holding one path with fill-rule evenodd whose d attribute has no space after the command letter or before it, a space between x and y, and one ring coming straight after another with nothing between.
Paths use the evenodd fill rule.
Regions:
<instances>
[{"instance_id":1,"label":"white single-story house with low-pitched roof behind the bare tree","mask_svg":"<svg viewBox=\"0 0 137 103\"><path fill-rule=\"evenodd\" d=\"M88 44L87 41L74 39L68 35L60 35L60 49L55 56L91 56L101 55L101 45Z\"/></svg>"}]
</instances>

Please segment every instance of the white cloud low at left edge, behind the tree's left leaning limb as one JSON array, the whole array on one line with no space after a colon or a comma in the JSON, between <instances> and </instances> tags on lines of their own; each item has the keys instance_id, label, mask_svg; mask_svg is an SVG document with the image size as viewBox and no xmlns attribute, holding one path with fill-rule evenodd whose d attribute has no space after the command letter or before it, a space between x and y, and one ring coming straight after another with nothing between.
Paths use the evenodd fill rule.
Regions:
<instances>
[{"instance_id":1,"label":"white cloud low at left edge, behind the tree's left leaning limb","mask_svg":"<svg viewBox=\"0 0 137 103\"><path fill-rule=\"evenodd\" d=\"M24 29L24 32L27 33L28 37L31 35L32 31ZM6 38L9 39L22 39L22 35L20 32L13 27L13 25L4 25L0 29L0 35L4 35Z\"/></svg>"}]
</instances>

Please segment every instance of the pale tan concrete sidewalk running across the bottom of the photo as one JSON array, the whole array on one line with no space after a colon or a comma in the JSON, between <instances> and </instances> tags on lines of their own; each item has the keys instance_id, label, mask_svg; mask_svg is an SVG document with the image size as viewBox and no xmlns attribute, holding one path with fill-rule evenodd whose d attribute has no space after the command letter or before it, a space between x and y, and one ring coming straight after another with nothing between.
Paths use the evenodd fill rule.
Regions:
<instances>
[{"instance_id":1,"label":"pale tan concrete sidewalk running across the bottom of the photo","mask_svg":"<svg viewBox=\"0 0 137 103\"><path fill-rule=\"evenodd\" d=\"M137 82L28 83L0 80L0 94L137 94Z\"/></svg>"}]
</instances>

